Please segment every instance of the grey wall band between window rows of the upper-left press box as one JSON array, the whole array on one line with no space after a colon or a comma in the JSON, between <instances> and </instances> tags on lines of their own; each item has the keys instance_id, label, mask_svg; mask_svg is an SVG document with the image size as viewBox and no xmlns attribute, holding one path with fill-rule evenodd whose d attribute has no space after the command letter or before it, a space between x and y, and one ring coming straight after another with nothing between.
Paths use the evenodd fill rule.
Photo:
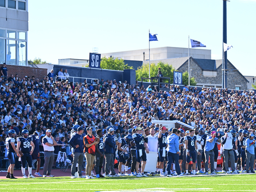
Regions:
<instances>
[{"instance_id":1,"label":"grey wall band between window rows of the upper-left press box","mask_svg":"<svg viewBox=\"0 0 256 192\"><path fill-rule=\"evenodd\" d=\"M28 2L26 1L26 4ZM7 20L6 20L7 18ZM29 30L29 13L23 10L0 7L0 27L16 30Z\"/></svg>"}]
</instances>

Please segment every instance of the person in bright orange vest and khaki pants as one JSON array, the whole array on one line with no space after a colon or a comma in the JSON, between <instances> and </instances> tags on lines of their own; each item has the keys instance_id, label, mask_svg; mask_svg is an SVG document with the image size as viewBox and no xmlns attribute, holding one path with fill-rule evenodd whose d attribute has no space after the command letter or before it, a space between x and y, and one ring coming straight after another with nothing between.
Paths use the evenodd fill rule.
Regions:
<instances>
[{"instance_id":1,"label":"person in bright orange vest and khaki pants","mask_svg":"<svg viewBox=\"0 0 256 192\"><path fill-rule=\"evenodd\" d=\"M99 140L96 141L93 133L93 127L86 128L87 135L84 136L84 151L86 157L86 179L94 179L91 176L91 171L93 167L93 162L95 159L96 147L95 145L99 143Z\"/></svg>"}]
</instances>

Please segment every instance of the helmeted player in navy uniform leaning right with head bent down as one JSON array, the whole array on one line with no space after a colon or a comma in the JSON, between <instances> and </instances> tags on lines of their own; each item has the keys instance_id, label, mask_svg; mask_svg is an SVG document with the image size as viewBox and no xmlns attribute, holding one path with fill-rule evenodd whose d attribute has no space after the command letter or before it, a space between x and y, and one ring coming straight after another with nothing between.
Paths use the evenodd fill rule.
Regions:
<instances>
[{"instance_id":1,"label":"helmeted player in navy uniform leaning right with head bent down","mask_svg":"<svg viewBox=\"0 0 256 192\"><path fill-rule=\"evenodd\" d=\"M120 138L118 140L118 145L117 145L117 158L119 160L119 174L120 176L125 176L124 170L125 170L125 163L126 159L124 158L124 154L129 151L128 144L133 140L131 135L126 135L124 138Z\"/></svg>"}]
</instances>

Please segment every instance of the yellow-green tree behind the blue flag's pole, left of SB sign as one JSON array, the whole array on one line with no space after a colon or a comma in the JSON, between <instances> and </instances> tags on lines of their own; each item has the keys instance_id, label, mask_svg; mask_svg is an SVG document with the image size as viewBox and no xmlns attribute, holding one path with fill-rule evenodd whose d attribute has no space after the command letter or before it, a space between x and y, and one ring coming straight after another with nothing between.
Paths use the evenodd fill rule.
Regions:
<instances>
[{"instance_id":1,"label":"yellow-green tree behind the blue flag's pole, left of SB sign","mask_svg":"<svg viewBox=\"0 0 256 192\"><path fill-rule=\"evenodd\" d=\"M136 71L136 80L141 81L141 78L148 78L148 66L149 64L143 64L142 67L139 67ZM170 77L170 82L173 82L173 71L175 70L172 65L167 63L163 63L160 61L159 63L151 63L150 64L150 77L156 77L158 73L158 68L161 68L162 74L164 77ZM164 80L163 80L164 81Z\"/></svg>"}]
</instances>

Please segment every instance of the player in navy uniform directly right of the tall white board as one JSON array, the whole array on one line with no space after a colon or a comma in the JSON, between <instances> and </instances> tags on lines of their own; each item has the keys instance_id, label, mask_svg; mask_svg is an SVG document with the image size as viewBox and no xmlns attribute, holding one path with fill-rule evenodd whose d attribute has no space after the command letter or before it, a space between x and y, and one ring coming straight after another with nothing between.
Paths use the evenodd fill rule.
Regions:
<instances>
[{"instance_id":1,"label":"player in navy uniform directly right of the tall white board","mask_svg":"<svg viewBox=\"0 0 256 192\"><path fill-rule=\"evenodd\" d=\"M169 133L166 131L167 128L165 126L163 127L160 127L159 128L160 131L159 133L156 134L156 137L158 138L158 145L159 145L159 148L158 148L158 158L157 158L157 168L159 169L160 171L160 176L165 176L163 174L163 161L166 160L166 163L168 161L167 159L167 154L166 154L166 139L169 135ZM166 165L167 167L167 165ZM167 175L167 172L165 170L165 173Z\"/></svg>"}]
</instances>

